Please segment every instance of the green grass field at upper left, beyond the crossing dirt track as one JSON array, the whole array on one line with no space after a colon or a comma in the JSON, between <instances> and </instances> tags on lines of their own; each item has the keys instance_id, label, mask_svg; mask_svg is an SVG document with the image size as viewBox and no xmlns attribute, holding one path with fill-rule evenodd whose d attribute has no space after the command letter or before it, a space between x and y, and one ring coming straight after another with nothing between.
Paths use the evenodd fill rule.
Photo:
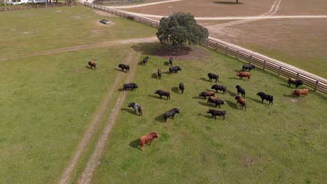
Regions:
<instances>
[{"instance_id":1,"label":"green grass field at upper left, beyond the crossing dirt track","mask_svg":"<svg viewBox=\"0 0 327 184\"><path fill-rule=\"evenodd\" d=\"M98 15L85 6L0 12L0 58L108 40L154 36L156 29ZM112 25L99 24L107 19Z\"/></svg>"}]
</instances>

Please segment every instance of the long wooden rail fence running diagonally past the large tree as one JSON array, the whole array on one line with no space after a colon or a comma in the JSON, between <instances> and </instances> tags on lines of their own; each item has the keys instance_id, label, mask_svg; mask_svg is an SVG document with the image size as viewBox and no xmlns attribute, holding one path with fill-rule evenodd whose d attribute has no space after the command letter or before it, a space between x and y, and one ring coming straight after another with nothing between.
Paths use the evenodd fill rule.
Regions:
<instances>
[{"instance_id":1,"label":"long wooden rail fence running diagonally past the large tree","mask_svg":"<svg viewBox=\"0 0 327 184\"><path fill-rule=\"evenodd\" d=\"M139 17L137 15L133 15L130 13L124 13L123 11L107 8L104 6L94 5L92 3L84 3L85 6L89 6L98 10L103 10L105 12L108 12L113 15L117 15L119 17L125 17L130 20L135 20L136 22L140 22L143 24L147 24L149 26L158 27L159 21L156 20L150 20L145 17ZM320 79L317 79L315 77L310 77L308 75L305 75L301 72L298 72L296 70L292 70L290 68L287 68L285 66L280 66L279 64L269 61L268 59L263 59L261 56L256 56L255 54L250 54L249 52L246 52L245 50L238 49L235 47L231 47L229 45L226 45L224 43L220 43L216 40L212 40L210 38L206 38L203 40L203 45L206 47L209 47L211 49L219 50L220 52L223 52L230 56L235 56L236 59L241 59L243 61L248 61L249 63L255 64L256 66L260 66L263 68L263 70L269 70L270 72L277 73L278 76L284 76L287 78L296 78L303 80L304 84L306 86L312 87L314 91L321 91L323 93L327 93L327 82L321 81Z\"/></svg>"}]
</instances>

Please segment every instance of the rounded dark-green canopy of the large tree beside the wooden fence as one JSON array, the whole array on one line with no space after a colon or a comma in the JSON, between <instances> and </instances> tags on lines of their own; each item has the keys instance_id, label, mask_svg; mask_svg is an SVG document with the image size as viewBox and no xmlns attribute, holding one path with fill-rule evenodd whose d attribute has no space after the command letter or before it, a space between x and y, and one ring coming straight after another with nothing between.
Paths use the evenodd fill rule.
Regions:
<instances>
[{"instance_id":1,"label":"rounded dark-green canopy of the large tree beside the wooden fence","mask_svg":"<svg viewBox=\"0 0 327 184\"><path fill-rule=\"evenodd\" d=\"M162 44L192 45L208 38L208 29L196 24L190 13L174 13L161 18L156 35Z\"/></svg>"}]
</instances>

